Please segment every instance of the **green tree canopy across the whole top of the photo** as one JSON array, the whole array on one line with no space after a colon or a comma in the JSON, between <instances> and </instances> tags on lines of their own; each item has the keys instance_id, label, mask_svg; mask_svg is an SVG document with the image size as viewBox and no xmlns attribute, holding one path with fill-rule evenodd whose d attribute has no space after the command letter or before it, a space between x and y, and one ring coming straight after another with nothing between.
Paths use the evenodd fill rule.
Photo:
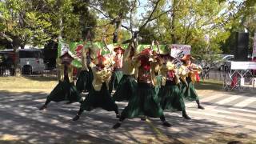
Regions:
<instances>
[{"instance_id":1,"label":"green tree canopy across the whole top of the photo","mask_svg":"<svg viewBox=\"0 0 256 144\"><path fill-rule=\"evenodd\" d=\"M192 53L230 53L234 32L256 27L254 0L1 0L1 47L44 46L50 41L86 39L122 43L189 44Z\"/></svg>"}]
</instances>

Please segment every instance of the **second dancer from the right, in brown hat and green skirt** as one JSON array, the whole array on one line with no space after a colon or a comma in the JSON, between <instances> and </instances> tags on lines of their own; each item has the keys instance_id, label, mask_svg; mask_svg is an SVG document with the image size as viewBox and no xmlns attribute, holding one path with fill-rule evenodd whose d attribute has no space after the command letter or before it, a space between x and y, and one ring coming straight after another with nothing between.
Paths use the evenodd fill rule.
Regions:
<instances>
[{"instance_id":1,"label":"second dancer from the right, in brown hat and green skirt","mask_svg":"<svg viewBox=\"0 0 256 144\"><path fill-rule=\"evenodd\" d=\"M178 70L175 69L170 54L161 54L163 65L161 68L162 86L159 90L158 98L163 110L182 111L182 117L191 119L186 114L185 103L182 93L178 87Z\"/></svg>"}]
</instances>

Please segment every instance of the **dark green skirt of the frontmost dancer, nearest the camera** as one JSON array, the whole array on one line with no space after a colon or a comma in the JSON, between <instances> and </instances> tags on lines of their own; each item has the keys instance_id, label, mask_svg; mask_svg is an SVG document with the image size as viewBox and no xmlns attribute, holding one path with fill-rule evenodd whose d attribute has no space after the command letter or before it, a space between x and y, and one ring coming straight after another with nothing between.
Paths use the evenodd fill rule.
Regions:
<instances>
[{"instance_id":1,"label":"dark green skirt of the frontmost dancer, nearest the camera","mask_svg":"<svg viewBox=\"0 0 256 144\"><path fill-rule=\"evenodd\" d=\"M154 94L154 86L147 83L138 83L137 93L130 98L121 117L138 118L142 115L151 118L160 118L163 115L158 97Z\"/></svg>"}]
</instances>

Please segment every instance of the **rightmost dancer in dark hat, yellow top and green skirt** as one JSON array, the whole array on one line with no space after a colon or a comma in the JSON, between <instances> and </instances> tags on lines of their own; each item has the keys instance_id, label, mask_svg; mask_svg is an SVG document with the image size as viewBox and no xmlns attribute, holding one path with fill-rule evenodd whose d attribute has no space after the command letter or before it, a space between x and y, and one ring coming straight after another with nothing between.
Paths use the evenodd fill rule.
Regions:
<instances>
[{"instance_id":1,"label":"rightmost dancer in dark hat, yellow top and green skirt","mask_svg":"<svg viewBox=\"0 0 256 144\"><path fill-rule=\"evenodd\" d=\"M196 82L195 73L200 73L202 71L201 66L197 66L191 62L194 58L188 54L182 58L183 65L179 68L178 74L182 80L181 90L182 96L189 101L196 101L198 104L198 109L204 109L204 107L199 102L198 94L194 89L194 82Z\"/></svg>"}]
</instances>

